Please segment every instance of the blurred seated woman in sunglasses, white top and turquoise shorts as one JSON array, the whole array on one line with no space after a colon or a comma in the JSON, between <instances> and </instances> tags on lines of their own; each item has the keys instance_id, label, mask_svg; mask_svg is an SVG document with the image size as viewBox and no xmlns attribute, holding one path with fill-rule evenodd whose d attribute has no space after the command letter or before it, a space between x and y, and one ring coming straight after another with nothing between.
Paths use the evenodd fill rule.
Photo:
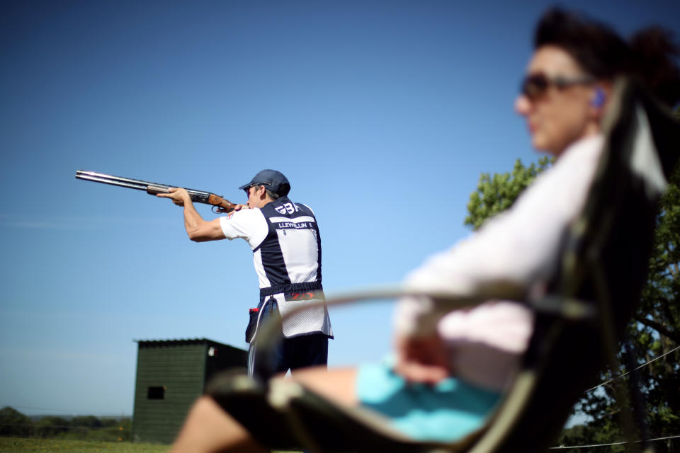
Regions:
<instances>
[{"instance_id":1,"label":"blurred seated woman in sunglasses, white top and turquoise shorts","mask_svg":"<svg viewBox=\"0 0 680 453\"><path fill-rule=\"evenodd\" d=\"M555 165L510 210L416 269L407 289L464 295L498 282L530 288L545 280L594 178L614 79L635 77L668 105L679 101L677 50L659 28L627 42L602 23L553 9L538 23L534 44L515 108L526 118L533 147L556 156ZM431 310L426 299L399 304L391 360L312 368L293 379L340 404L370 408L416 440L460 439L482 426L518 369L533 315L521 304L489 301L425 322ZM204 397L174 451L263 451L294 442L272 435L274 428L239 420Z\"/></svg>"}]
</instances>

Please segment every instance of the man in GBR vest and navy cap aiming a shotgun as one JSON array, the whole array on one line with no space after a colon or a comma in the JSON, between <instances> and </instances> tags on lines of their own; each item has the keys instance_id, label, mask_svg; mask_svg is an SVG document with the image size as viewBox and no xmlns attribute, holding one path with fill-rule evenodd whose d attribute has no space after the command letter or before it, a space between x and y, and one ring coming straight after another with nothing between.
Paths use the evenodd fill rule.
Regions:
<instances>
[{"instance_id":1,"label":"man in GBR vest and navy cap aiming a shotgun","mask_svg":"<svg viewBox=\"0 0 680 453\"><path fill-rule=\"evenodd\" d=\"M248 242L260 287L259 304L250 309L246 328L246 342L250 343L250 376L256 369L259 376L268 378L288 369L327 365L328 338L333 338L333 331L325 306L300 311L283 322L283 341L274 352L274 363L265 364L264 357L257 357L257 331L263 319L324 299L317 219L309 207L288 198L290 183L282 173L263 170L239 187L246 193L244 205L234 205L200 190L103 173L79 171L76 178L145 190L157 197L169 198L175 205L183 206L184 227L192 241L240 238ZM196 211L194 202L212 205L213 210L228 214L206 221Z\"/></svg>"}]
</instances>

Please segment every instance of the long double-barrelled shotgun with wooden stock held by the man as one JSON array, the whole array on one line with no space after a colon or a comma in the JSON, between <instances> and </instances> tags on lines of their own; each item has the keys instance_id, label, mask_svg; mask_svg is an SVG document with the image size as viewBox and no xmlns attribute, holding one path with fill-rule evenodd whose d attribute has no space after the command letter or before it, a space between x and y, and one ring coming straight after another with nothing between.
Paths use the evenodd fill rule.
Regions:
<instances>
[{"instance_id":1,"label":"long double-barrelled shotgun with wooden stock held by the man","mask_svg":"<svg viewBox=\"0 0 680 453\"><path fill-rule=\"evenodd\" d=\"M142 181L138 179L121 178L120 176L111 176L104 173L96 173L94 171L76 171L77 179L84 179L94 181L95 183L118 185L128 189L145 190L149 195L156 195L157 193L169 193L168 188L181 187L181 185L169 185L160 183L149 183L149 181ZM195 203L203 203L204 205L212 205L212 212L229 212L234 210L234 203L220 195L205 192L205 190L186 189L191 197L191 201Z\"/></svg>"}]
</instances>

